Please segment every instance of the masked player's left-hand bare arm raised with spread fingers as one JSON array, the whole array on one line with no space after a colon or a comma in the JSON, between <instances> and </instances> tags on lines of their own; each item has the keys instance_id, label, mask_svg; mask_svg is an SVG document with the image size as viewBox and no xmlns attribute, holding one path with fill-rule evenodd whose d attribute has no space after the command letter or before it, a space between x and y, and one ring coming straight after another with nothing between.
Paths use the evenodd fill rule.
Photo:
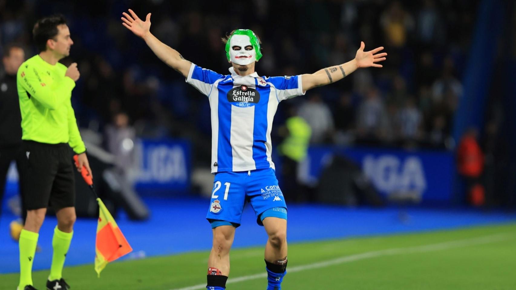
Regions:
<instances>
[{"instance_id":1,"label":"masked player's left-hand bare arm raised with spread fingers","mask_svg":"<svg viewBox=\"0 0 516 290\"><path fill-rule=\"evenodd\" d=\"M152 35L151 28L151 13L147 14L145 21L138 18L133 10L129 9L127 14L123 12L122 25L131 30L136 36L141 37L145 43L152 49L152 52L172 69L181 73L184 77L188 76L191 62L185 60L177 50L159 41Z\"/></svg>"}]
</instances>

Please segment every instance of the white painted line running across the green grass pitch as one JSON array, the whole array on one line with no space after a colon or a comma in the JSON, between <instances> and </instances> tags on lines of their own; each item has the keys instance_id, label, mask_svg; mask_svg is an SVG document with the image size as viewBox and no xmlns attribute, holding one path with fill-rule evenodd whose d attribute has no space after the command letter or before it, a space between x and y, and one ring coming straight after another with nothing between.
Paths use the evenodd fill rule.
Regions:
<instances>
[{"instance_id":1,"label":"white painted line running across the green grass pitch","mask_svg":"<svg viewBox=\"0 0 516 290\"><path fill-rule=\"evenodd\" d=\"M429 245L423 245L423 246L414 246L414 247L406 247L406 248L392 248L392 249L385 249L385 250L379 250L379 251L370 251L370 252L365 252L365 253L360 253L360 254L352 254L352 255L348 255L348 256L343 256L340 258L327 260L327 261L323 261L323 262L317 262L317 263L312 263L312 264L302 265L302 266L297 266L297 267L290 267L287 269L287 272L293 273L293 272L299 272L299 271L304 271L304 270L308 270L308 269L324 268L324 267L328 267L331 265L344 264L344 263L349 263L349 262L354 262L354 261L359 261L359 260L364 260L364 259L370 259L370 258L383 257L383 256L388 256L388 255L424 253L424 252L431 252L431 251L447 250L447 249L451 249L451 248L460 248L460 247L464 247L464 246L489 244L489 243L494 243L494 242L502 242L502 241L510 240L511 238L514 238L513 234L501 233L501 234L467 238L464 240L449 241L449 242L429 244ZM254 279L258 279L258 278L266 278L266 277L267 277L267 273L262 272L260 274L231 278L231 279L228 279L228 282L226 282L226 284L238 283L238 282L242 282L242 281L249 281L249 280L254 280ZM184 288L176 288L176 289L172 289L172 290L201 290L201 289L206 289L206 283L188 286L188 287L184 287Z\"/></svg>"}]
</instances>

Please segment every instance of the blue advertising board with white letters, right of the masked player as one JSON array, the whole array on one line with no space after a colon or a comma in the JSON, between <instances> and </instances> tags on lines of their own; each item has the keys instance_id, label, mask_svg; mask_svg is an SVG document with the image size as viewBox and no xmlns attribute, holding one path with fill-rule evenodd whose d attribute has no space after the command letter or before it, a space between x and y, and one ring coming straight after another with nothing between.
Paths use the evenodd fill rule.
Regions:
<instances>
[{"instance_id":1,"label":"blue advertising board with white letters, right of the masked player","mask_svg":"<svg viewBox=\"0 0 516 290\"><path fill-rule=\"evenodd\" d=\"M311 147L300 165L301 180L312 185L334 155L345 156L361 166L379 193L411 192L421 203L449 204L455 177L453 153L378 148Z\"/></svg>"}]
</instances>

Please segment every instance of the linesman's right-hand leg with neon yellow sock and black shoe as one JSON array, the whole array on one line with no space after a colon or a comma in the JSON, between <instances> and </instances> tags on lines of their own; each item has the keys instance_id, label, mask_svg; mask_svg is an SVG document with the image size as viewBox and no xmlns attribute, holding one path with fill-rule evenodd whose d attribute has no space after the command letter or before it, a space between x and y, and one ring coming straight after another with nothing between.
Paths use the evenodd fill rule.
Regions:
<instances>
[{"instance_id":1,"label":"linesman's right-hand leg with neon yellow sock and black shoe","mask_svg":"<svg viewBox=\"0 0 516 290\"><path fill-rule=\"evenodd\" d=\"M70 286L62 279L62 270L65 265L66 254L70 248L73 236L73 225L75 224L76 215L74 207L66 207L56 212L57 227L54 229L54 237L52 238L52 265L50 267L50 276L46 282L49 289L67 290Z\"/></svg>"}]
</instances>

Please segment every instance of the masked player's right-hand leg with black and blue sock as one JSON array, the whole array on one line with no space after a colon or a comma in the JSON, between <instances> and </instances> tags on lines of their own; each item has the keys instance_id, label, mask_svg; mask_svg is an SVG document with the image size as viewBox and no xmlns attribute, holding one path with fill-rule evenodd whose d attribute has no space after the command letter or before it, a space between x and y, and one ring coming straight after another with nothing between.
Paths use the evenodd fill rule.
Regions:
<instances>
[{"instance_id":1,"label":"masked player's right-hand leg with black and blue sock","mask_svg":"<svg viewBox=\"0 0 516 290\"><path fill-rule=\"evenodd\" d=\"M265 231L269 236L265 245L265 263L268 272L268 290L281 289L287 266L287 220L278 217L263 219Z\"/></svg>"}]
</instances>

